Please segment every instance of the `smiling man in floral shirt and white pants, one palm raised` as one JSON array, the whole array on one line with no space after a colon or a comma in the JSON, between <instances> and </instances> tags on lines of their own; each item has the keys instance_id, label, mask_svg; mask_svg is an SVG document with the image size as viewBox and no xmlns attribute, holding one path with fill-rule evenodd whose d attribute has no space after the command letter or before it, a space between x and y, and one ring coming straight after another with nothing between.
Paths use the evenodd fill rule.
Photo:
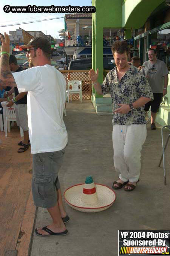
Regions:
<instances>
[{"instance_id":1,"label":"smiling man in floral shirt and white pants, one palm raised","mask_svg":"<svg viewBox=\"0 0 170 256\"><path fill-rule=\"evenodd\" d=\"M142 72L128 64L126 42L113 43L112 53L116 67L102 85L97 81L98 69L91 69L89 75L96 92L110 93L112 98L114 167L119 174L113 188L124 186L125 191L132 191L139 181L141 150L146 139L144 105L153 100L153 93Z\"/></svg>"}]
</instances>

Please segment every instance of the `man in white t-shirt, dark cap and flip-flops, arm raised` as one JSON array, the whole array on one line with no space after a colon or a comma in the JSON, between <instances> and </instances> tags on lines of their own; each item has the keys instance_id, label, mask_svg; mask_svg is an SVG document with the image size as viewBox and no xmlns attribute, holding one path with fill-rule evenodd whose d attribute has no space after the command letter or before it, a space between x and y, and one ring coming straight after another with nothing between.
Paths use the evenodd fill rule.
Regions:
<instances>
[{"instance_id":1,"label":"man in white t-shirt, dark cap and flip-flops, arm raised","mask_svg":"<svg viewBox=\"0 0 170 256\"><path fill-rule=\"evenodd\" d=\"M47 208L53 223L36 228L39 236L67 234L66 222L70 220L62 203L58 172L62 165L67 132L63 122L66 102L66 81L51 67L51 44L44 37L34 37L27 49L31 68L17 73L9 69L9 37L1 36L0 82L17 87L19 93L28 92L28 127L33 154L32 194L34 204Z\"/></svg>"}]
</instances>

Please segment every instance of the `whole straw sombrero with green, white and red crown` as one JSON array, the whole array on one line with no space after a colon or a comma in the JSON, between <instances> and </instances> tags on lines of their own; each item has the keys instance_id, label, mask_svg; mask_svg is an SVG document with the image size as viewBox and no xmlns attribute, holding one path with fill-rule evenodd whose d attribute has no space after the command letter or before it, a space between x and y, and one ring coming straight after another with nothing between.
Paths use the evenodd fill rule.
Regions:
<instances>
[{"instance_id":1,"label":"whole straw sombrero with green, white and red crown","mask_svg":"<svg viewBox=\"0 0 170 256\"><path fill-rule=\"evenodd\" d=\"M66 189L64 198L68 205L78 211L95 213L113 205L116 194L107 186L94 183L93 178L88 176L84 184Z\"/></svg>"}]
</instances>

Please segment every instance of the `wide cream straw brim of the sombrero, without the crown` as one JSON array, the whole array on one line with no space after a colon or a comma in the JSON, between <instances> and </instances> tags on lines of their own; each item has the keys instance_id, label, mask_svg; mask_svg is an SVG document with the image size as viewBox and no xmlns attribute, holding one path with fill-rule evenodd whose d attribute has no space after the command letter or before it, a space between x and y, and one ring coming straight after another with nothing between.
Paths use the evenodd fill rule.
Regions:
<instances>
[{"instance_id":1,"label":"wide cream straw brim of the sombrero, without the crown","mask_svg":"<svg viewBox=\"0 0 170 256\"><path fill-rule=\"evenodd\" d=\"M68 205L78 211L87 213L104 211L113 205L116 199L116 194L111 188L108 188L107 186L97 183L95 183L95 185L98 197L96 204L91 205L90 202L83 202L82 197L84 184L77 184L66 189L64 192L65 201L68 203Z\"/></svg>"}]
</instances>

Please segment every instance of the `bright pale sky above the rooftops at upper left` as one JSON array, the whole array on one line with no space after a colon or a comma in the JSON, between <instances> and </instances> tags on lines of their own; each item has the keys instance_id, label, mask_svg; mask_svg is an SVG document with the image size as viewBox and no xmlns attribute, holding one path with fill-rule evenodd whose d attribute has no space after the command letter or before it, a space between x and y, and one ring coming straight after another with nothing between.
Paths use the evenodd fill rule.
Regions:
<instances>
[{"instance_id":1,"label":"bright pale sky above the rooftops at upper left","mask_svg":"<svg viewBox=\"0 0 170 256\"><path fill-rule=\"evenodd\" d=\"M59 31L60 29L64 28L64 13L6 13L3 11L3 7L5 5L10 6L27 6L27 5L36 5L36 6L91 6L91 0L35 0L35 1L18 1L18 0L12 0L12 1L0 1L0 33L4 34L6 32L9 34L9 31L16 31L16 29L22 28L26 31L42 31L44 34L50 34L51 36L55 38L60 38ZM43 22L36 22L36 23L29 23L29 24L22 24L22 25L15 25L15 26L5 26L5 25L11 25L15 23L21 23L21 22L29 22L29 21L36 21L36 20L42 20L42 19L51 19L55 17L62 17L62 19L54 19L54 20L48 20Z\"/></svg>"}]
</instances>

